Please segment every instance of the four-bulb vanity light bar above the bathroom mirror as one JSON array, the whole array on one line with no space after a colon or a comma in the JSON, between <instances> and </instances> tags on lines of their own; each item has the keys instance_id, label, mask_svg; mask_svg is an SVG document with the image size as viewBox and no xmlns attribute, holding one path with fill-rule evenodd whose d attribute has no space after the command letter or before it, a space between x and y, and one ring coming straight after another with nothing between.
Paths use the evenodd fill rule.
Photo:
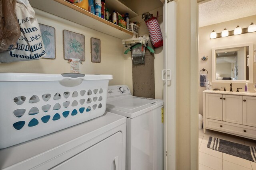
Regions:
<instances>
[{"instance_id":1,"label":"four-bulb vanity light bar above the bathroom mirror","mask_svg":"<svg viewBox=\"0 0 256 170\"><path fill-rule=\"evenodd\" d=\"M226 28L224 28L224 30L221 33L216 33L215 31L212 31L212 33L210 34L210 39L253 32L256 32L256 25L254 23L251 23L248 28L241 28L239 27L239 25L237 25L237 27L232 31L228 31Z\"/></svg>"}]
</instances>

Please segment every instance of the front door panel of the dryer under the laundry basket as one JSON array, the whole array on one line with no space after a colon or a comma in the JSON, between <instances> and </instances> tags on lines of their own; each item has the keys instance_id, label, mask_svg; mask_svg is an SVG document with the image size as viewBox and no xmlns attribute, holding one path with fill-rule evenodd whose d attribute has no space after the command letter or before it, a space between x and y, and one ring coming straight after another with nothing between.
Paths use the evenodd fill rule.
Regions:
<instances>
[{"instance_id":1,"label":"front door panel of the dryer under the laundry basket","mask_svg":"<svg viewBox=\"0 0 256 170\"><path fill-rule=\"evenodd\" d=\"M122 133L115 133L52 168L52 170L82 169L122 170Z\"/></svg>"}]
</instances>

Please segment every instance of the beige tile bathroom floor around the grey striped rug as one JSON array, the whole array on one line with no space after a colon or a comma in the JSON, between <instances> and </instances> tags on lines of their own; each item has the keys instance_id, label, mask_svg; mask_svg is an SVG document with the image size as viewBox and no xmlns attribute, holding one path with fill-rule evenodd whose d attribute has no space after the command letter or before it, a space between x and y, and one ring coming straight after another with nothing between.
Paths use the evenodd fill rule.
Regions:
<instances>
[{"instance_id":1,"label":"beige tile bathroom floor around the grey striped rug","mask_svg":"<svg viewBox=\"0 0 256 170\"><path fill-rule=\"evenodd\" d=\"M206 130L204 134L203 129L199 129L199 170L256 170L256 162L207 148L210 136L256 147L254 140L211 130Z\"/></svg>"}]
</instances>

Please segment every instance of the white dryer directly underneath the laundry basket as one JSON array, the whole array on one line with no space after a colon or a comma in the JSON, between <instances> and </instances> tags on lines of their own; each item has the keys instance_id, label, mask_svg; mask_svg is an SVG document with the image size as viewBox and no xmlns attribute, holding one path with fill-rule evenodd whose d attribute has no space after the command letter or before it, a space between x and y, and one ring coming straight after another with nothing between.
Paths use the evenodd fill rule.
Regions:
<instances>
[{"instance_id":1,"label":"white dryer directly underneath the laundry basket","mask_svg":"<svg viewBox=\"0 0 256 170\"><path fill-rule=\"evenodd\" d=\"M125 170L126 117L104 115L0 149L2 170Z\"/></svg>"}]
</instances>

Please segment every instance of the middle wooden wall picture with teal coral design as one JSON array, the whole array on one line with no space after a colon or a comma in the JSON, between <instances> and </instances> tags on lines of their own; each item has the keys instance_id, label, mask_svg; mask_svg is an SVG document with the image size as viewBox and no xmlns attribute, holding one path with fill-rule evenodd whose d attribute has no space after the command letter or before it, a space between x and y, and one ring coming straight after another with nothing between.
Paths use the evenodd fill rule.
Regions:
<instances>
[{"instance_id":1,"label":"middle wooden wall picture with teal coral design","mask_svg":"<svg viewBox=\"0 0 256 170\"><path fill-rule=\"evenodd\" d=\"M84 35L63 30L64 59L80 59L85 61Z\"/></svg>"}]
</instances>

